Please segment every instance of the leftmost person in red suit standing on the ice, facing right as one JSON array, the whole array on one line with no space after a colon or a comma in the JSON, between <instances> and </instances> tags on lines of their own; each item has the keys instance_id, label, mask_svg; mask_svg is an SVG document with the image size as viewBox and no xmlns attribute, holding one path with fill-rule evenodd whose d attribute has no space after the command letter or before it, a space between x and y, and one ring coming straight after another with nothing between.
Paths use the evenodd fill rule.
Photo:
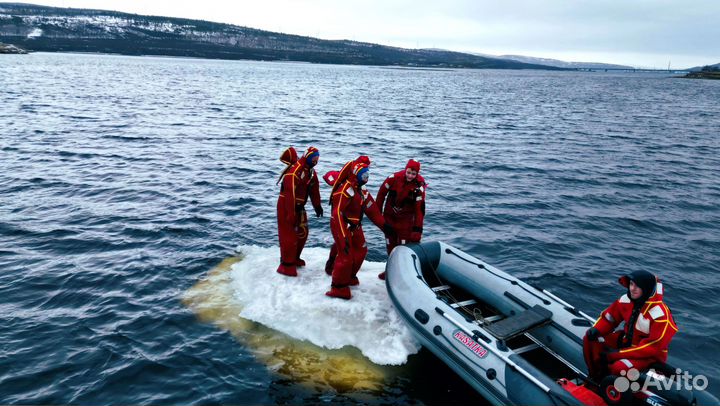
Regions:
<instances>
[{"instance_id":1,"label":"leftmost person in red suit standing on the ice, facing right","mask_svg":"<svg viewBox=\"0 0 720 406\"><path fill-rule=\"evenodd\" d=\"M289 148L280 157L283 162L292 162L294 149ZM290 164L280 177L280 197L277 203L278 237L280 239L280 266L278 273L297 276L297 267L305 266L300 258L308 236L305 203L312 200L315 214L322 217L320 184L313 167L320 159L320 152L309 147L305 155Z\"/></svg>"}]
</instances>

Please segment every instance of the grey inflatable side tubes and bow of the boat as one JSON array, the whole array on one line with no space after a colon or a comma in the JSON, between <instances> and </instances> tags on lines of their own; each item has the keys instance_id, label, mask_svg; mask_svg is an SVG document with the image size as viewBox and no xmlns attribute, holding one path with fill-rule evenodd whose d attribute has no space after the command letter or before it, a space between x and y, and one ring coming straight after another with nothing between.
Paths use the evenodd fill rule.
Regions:
<instances>
[{"instance_id":1,"label":"grey inflatable side tubes and bow of the boat","mask_svg":"<svg viewBox=\"0 0 720 406\"><path fill-rule=\"evenodd\" d=\"M497 339L476 319L469 320L453 303L439 298L428 275L463 286L482 298L493 308L495 314L490 317L518 315L537 304L546 307L552 312L552 322L534 329L533 338L540 345L551 345L580 368L584 368L582 336L591 325L586 317L573 314L566 304L443 243L399 246L388 258L386 270L390 297L418 340L491 403L581 404L553 378L508 347L505 340ZM572 320L578 325L573 326ZM539 382L523 375L520 369Z\"/></svg>"}]
</instances>

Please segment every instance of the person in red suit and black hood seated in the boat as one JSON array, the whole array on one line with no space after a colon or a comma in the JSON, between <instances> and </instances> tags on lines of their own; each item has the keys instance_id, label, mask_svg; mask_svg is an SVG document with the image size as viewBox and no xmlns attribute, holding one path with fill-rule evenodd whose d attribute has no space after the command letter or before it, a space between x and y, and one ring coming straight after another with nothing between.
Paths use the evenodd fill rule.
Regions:
<instances>
[{"instance_id":1,"label":"person in red suit and black hood seated in the boat","mask_svg":"<svg viewBox=\"0 0 720 406\"><path fill-rule=\"evenodd\" d=\"M648 368L665 362L668 346L678 331L670 309L663 303L663 285L647 271L619 279L627 293L605 309L583 339L583 353L591 379L608 373ZM622 331L614 331L620 322Z\"/></svg>"}]
</instances>

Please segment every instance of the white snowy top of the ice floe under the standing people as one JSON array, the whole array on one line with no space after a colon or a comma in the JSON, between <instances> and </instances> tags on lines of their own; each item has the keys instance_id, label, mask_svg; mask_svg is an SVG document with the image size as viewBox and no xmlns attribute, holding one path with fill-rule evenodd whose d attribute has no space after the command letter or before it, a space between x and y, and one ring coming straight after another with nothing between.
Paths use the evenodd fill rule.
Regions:
<instances>
[{"instance_id":1,"label":"white snowy top of the ice floe under the standing people","mask_svg":"<svg viewBox=\"0 0 720 406\"><path fill-rule=\"evenodd\" d=\"M385 282L377 275L385 263L365 261L352 287L352 299L325 296L327 248L305 248L307 266L299 276L278 274L278 247L240 246L245 258L231 271L234 297L243 306L240 316L328 349L358 348L372 362L400 365L420 350L395 310Z\"/></svg>"}]
</instances>

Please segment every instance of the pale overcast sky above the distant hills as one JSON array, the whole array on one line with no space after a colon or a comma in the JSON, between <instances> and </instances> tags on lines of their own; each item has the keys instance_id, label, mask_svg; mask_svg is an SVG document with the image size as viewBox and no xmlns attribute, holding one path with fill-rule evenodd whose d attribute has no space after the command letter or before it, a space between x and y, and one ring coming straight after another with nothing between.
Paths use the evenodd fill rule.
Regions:
<instances>
[{"instance_id":1,"label":"pale overcast sky above the distant hills","mask_svg":"<svg viewBox=\"0 0 720 406\"><path fill-rule=\"evenodd\" d=\"M720 63L720 0L44 0L404 48L674 68Z\"/></svg>"}]
</instances>

